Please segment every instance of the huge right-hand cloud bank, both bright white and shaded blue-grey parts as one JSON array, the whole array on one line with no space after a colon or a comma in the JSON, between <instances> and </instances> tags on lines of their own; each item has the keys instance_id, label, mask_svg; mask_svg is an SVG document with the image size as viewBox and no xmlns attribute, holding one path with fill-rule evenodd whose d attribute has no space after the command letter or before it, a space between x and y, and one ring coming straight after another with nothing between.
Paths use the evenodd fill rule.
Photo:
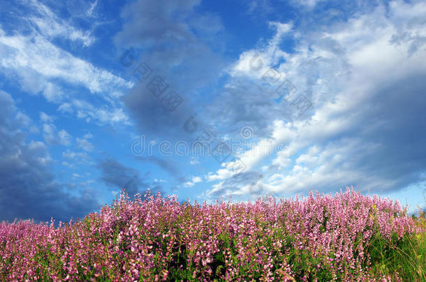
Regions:
<instances>
[{"instance_id":1,"label":"huge right-hand cloud bank, both bright white and shaded blue-grey parts","mask_svg":"<svg viewBox=\"0 0 426 282\"><path fill-rule=\"evenodd\" d=\"M420 95L424 87L420 77L426 74L426 64L418 62L424 61L426 42L421 38L416 42L396 38L407 33L426 34L424 19L419 16L424 14L419 12L423 6L420 2L407 5L394 1L388 12L378 6L371 13L311 31L307 36L295 29L292 34L301 37L294 54L279 49L280 38L291 26L281 25L280 29L274 24L276 35L266 47L243 52L230 71L233 79L228 87L233 92L243 91L239 87L244 80L261 81L265 72L249 67L250 60L259 56L265 70L274 68L290 79L314 104L311 116L292 120L286 116L288 112L273 111L269 104L260 108L262 111L251 111L258 118L256 123L274 125L265 132L274 141L288 142L285 150L263 167L266 175L260 183L266 191L291 194L309 189L330 191L347 185L390 191L420 181L418 175L426 169L426 155L419 147L426 137L421 130L426 118L419 106L426 102ZM250 91L254 89L251 86ZM263 95L263 99L268 98ZM222 102L226 105L223 111L240 113L235 119L246 118L244 111L235 108L244 101L247 106L253 104L251 99L229 100ZM412 138L410 132L416 132L416 137ZM412 146L402 147L404 143ZM240 156L243 158L244 154ZM259 157L256 163L263 159ZM249 186L223 188L226 180L237 176L226 169L228 164L223 166L207 175L211 181L221 181L207 194L226 190L228 194L248 196Z\"/></svg>"}]
</instances>

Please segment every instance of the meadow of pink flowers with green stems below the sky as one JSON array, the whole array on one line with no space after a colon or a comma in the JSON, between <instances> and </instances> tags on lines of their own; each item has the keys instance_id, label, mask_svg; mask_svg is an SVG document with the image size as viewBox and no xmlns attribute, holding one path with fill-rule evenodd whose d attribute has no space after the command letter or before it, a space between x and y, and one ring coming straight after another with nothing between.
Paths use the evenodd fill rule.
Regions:
<instances>
[{"instance_id":1,"label":"meadow of pink flowers with green stems below the sky","mask_svg":"<svg viewBox=\"0 0 426 282\"><path fill-rule=\"evenodd\" d=\"M1 223L0 281L424 281L425 226L353 188L192 205L123 191L56 227Z\"/></svg>"}]
</instances>

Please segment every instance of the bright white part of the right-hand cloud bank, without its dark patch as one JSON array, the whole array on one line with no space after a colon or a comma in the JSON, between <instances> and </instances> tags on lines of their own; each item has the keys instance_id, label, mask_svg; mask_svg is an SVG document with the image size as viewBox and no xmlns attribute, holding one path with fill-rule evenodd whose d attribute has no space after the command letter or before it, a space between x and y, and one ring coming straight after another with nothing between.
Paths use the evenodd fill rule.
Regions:
<instances>
[{"instance_id":1,"label":"bright white part of the right-hand cloud bank, without its dark patch","mask_svg":"<svg viewBox=\"0 0 426 282\"><path fill-rule=\"evenodd\" d=\"M241 54L230 69L233 79L228 87L232 88L237 79L257 83L268 68L278 64L277 73L290 79L298 91L307 93L314 105L308 118L286 123L277 117L270 120L272 132L264 140L273 144L285 141L288 147L267 161L269 166L262 166L265 177L260 185L265 191L291 194L306 189L339 189L355 183L360 189L386 191L414 179L408 174L390 173L397 164L395 159L395 163L381 167L380 157L372 162L370 156L380 156L379 152L392 146L392 140L383 141L374 132L398 128L381 118L386 108L377 101L385 103L388 97L378 97L378 93L395 81L426 74L426 40L413 36L399 40L406 38L406 33L416 34L417 38L426 36L425 23L425 3L393 1L388 11L379 6L372 13L358 14L346 23L307 33L306 37L303 31L290 31L289 26L281 26L279 31L276 26L276 36L267 47ZM279 49L280 38L289 31L299 36L294 54ZM254 60L256 54L261 61ZM261 65L260 71L250 68L250 63ZM260 118L270 117L265 114ZM265 162L266 154L250 155L251 150L237 155L237 160L247 164L246 171ZM221 191L223 182L235 177L232 168L228 168L231 164L222 164L223 168L207 175L208 181L220 181L207 195ZM249 185L229 193L247 195Z\"/></svg>"}]
</instances>

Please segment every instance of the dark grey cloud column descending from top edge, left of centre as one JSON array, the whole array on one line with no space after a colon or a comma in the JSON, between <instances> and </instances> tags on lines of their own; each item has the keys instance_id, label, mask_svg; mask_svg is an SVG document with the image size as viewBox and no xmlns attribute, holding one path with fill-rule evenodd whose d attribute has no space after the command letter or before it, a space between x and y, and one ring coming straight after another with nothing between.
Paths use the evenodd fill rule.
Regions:
<instances>
[{"instance_id":1,"label":"dark grey cloud column descending from top edge, left of centre","mask_svg":"<svg viewBox=\"0 0 426 282\"><path fill-rule=\"evenodd\" d=\"M115 43L122 49L134 48L138 58L128 71L133 75L145 62L153 72L122 99L141 133L186 138L182 130L185 120L203 110L200 92L220 76L223 58L212 52L207 42L221 31L221 22L215 15L197 15L193 8L198 3L140 0L122 11L125 23ZM136 50L142 51L138 54ZM156 75L168 85L159 97L147 89ZM168 111L161 101L170 90L182 97L174 111Z\"/></svg>"}]
</instances>

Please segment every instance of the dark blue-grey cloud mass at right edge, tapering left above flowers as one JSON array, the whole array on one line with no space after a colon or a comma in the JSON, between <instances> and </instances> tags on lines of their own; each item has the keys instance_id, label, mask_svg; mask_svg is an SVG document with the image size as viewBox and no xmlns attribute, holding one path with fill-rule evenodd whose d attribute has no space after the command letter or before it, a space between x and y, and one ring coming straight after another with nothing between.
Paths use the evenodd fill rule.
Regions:
<instances>
[{"instance_id":1,"label":"dark blue-grey cloud mass at right edge, tapering left above flowers","mask_svg":"<svg viewBox=\"0 0 426 282\"><path fill-rule=\"evenodd\" d=\"M355 113L355 123L327 142L329 148L335 147L335 155L344 159L338 165L330 165L341 178L316 183L309 189L330 191L331 187L344 189L353 185L363 191L388 192L425 181L425 77L407 76L377 89ZM351 139L362 143L339 150L345 148L345 140Z\"/></svg>"}]
</instances>

